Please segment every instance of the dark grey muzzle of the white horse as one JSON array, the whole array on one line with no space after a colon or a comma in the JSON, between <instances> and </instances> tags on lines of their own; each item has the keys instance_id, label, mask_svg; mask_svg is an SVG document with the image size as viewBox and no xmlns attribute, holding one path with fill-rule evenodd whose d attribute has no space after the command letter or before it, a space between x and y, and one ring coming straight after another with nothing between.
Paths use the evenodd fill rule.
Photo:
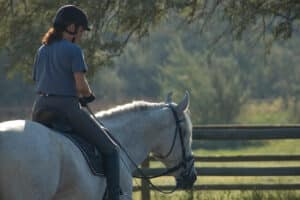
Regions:
<instances>
[{"instance_id":1,"label":"dark grey muzzle of the white horse","mask_svg":"<svg viewBox=\"0 0 300 200\"><path fill-rule=\"evenodd\" d=\"M195 181L197 180L197 172L194 167L194 159L187 163L184 171L176 177L176 187L178 189L192 189Z\"/></svg>"}]
</instances>

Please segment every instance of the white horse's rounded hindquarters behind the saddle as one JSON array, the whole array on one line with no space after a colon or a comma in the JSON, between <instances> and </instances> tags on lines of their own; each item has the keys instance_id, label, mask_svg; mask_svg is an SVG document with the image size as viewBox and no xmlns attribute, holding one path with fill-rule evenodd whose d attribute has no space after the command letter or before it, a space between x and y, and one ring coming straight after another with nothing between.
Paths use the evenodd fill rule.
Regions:
<instances>
[{"instance_id":1,"label":"white horse's rounded hindquarters behind the saddle","mask_svg":"<svg viewBox=\"0 0 300 200\"><path fill-rule=\"evenodd\" d=\"M25 120L0 123L0 199L48 199L55 193L59 149L46 130Z\"/></svg>"}]
</instances>

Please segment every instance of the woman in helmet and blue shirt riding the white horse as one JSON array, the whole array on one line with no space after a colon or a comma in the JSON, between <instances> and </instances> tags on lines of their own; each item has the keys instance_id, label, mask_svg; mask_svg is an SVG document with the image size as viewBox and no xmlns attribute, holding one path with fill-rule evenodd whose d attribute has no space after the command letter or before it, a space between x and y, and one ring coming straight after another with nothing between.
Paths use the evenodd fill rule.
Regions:
<instances>
[{"instance_id":1,"label":"woman in helmet and blue shirt riding the white horse","mask_svg":"<svg viewBox=\"0 0 300 200\"><path fill-rule=\"evenodd\" d=\"M93 143L104 156L110 200L119 199L119 150L105 129L83 107L95 99L85 77L87 66L80 47L84 31L89 31L86 14L76 6L61 7L53 27L44 35L33 68L37 97L32 119L41 122L40 111L59 110L79 134ZM81 104L81 105L80 105Z\"/></svg>"}]
</instances>

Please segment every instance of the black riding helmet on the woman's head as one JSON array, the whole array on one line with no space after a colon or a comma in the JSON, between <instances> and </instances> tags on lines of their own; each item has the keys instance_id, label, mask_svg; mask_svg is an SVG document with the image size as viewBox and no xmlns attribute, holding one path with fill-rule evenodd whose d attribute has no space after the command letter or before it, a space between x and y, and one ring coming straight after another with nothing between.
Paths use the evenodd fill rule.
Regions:
<instances>
[{"instance_id":1,"label":"black riding helmet on the woman's head","mask_svg":"<svg viewBox=\"0 0 300 200\"><path fill-rule=\"evenodd\" d=\"M70 24L75 24L75 32L66 30ZM80 8L74 5L65 5L57 10L53 20L54 28L62 29L71 35L75 35L79 26L82 26L84 30L91 30L88 26L87 15Z\"/></svg>"}]
</instances>

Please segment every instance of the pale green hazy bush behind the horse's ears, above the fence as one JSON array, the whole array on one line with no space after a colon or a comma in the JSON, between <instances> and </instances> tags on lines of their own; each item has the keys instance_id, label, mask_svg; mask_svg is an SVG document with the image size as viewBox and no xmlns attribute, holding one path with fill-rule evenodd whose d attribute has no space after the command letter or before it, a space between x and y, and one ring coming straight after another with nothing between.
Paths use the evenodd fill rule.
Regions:
<instances>
[{"instance_id":1,"label":"pale green hazy bush behind the horse's ears, above the fence","mask_svg":"<svg viewBox=\"0 0 300 200\"><path fill-rule=\"evenodd\" d=\"M169 46L167 61L162 66L163 93L189 91L192 115L197 124L232 122L248 97L247 89L241 84L236 58L216 54L207 62L204 46L191 51L183 44L184 41L177 37Z\"/></svg>"}]
</instances>

